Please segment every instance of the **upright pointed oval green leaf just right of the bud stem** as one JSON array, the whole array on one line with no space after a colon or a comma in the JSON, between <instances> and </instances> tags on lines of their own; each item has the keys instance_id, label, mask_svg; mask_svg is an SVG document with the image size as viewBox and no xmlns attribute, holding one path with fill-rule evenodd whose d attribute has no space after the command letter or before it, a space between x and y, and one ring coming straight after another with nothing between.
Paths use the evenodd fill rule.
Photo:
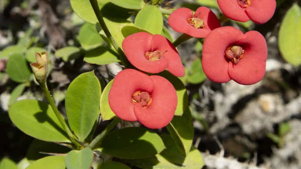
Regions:
<instances>
[{"instance_id":1,"label":"upright pointed oval green leaf just right of the bud stem","mask_svg":"<svg viewBox=\"0 0 301 169\"><path fill-rule=\"evenodd\" d=\"M94 71L79 75L67 89L67 119L80 141L84 141L89 135L98 118L100 96L100 83Z\"/></svg>"}]
</instances>

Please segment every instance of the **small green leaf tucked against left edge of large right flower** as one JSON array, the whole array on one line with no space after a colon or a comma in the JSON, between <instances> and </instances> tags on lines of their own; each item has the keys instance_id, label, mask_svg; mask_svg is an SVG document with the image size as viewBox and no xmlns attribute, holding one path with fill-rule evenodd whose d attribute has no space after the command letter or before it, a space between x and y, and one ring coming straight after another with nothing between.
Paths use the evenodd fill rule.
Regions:
<instances>
[{"instance_id":1,"label":"small green leaf tucked against left edge of large right flower","mask_svg":"<svg viewBox=\"0 0 301 169\"><path fill-rule=\"evenodd\" d=\"M191 84L199 84L206 78L207 76L205 75L202 68L202 61L198 58L191 64L190 72L188 74L188 82Z\"/></svg>"}]
</instances>

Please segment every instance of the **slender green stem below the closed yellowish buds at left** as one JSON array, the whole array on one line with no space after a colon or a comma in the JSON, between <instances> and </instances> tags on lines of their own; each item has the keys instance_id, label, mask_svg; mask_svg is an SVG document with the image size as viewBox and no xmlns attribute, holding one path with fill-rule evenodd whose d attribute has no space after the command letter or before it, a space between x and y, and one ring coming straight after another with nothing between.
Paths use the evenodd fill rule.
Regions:
<instances>
[{"instance_id":1,"label":"slender green stem below the closed yellowish buds at left","mask_svg":"<svg viewBox=\"0 0 301 169\"><path fill-rule=\"evenodd\" d=\"M65 121L65 118L61 115L58 108L56 107L56 105L54 103L54 100L50 95L50 92L48 90L46 82L42 82L42 83L39 83L39 84L40 84L40 87L41 87L43 93L45 94L45 97L46 97L48 103L50 104L50 106L51 106L52 110L54 111L56 117L59 119L59 121L60 121L61 125L63 126L64 130L66 131L67 135L69 136L71 141L76 145L76 147L78 147L78 148L81 147L82 145L80 145L77 141L74 140L73 134L72 134L70 128L68 127L68 125Z\"/></svg>"}]
</instances>

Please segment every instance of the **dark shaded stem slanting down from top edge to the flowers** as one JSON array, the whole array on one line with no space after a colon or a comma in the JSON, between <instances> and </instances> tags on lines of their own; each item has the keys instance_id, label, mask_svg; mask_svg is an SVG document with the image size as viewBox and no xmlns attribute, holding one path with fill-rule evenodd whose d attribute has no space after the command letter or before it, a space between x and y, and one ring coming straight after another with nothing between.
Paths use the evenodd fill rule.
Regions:
<instances>
[{"instance_id":1,"label":"dark shaded stem slanting down from top edge to the flowers","mask_svg":"<svg viewBox=\"0 0 301 169\"><path fill-rule=\"evenodd\" d=\"M123 51L121 50L121 48L118 46L118 44L114 40L113 36L111 35L108 27L105 25L105 22L103 20L103 17L101 15L101 12L100 12L99 7L98 7L97 0L90 0L90 4L93 8L93 11L96 15L96 18L99 22L99 25L100 25L101 29L103 30L104 34L108 38L109 42L112 44L113 48L118 52L118 55L120 56L120 60L121 60L122 65L124 67L127 67L128 66L128 61L127 61Z\"/></svg>"}]
</instances>

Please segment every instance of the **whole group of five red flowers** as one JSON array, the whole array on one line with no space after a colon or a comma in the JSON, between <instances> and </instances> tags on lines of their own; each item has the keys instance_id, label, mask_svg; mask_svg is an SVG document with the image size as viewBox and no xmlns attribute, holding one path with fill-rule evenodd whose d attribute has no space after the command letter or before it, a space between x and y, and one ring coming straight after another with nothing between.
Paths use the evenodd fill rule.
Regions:
<instances>
[{"instance_id":1,"label":"whole group of five red flowers","mask_svg":"<svg viewBox=\"0 0 301 169\"><path fill-rule=\"evenodd\" d=\"M217 0L224 15L232 20L263 24L274 14L275 0ZM221 27L215 14L200 7L174 11L169 25L177 32L205 38L202 67L206 76L218 83L230 80L243 85L259 82L265 74L267 46L256 32L245 34L234 27ZM147 73L168 70L175 76L185 74L179 53L162 35L144 32L126 37L122 48L128 61ZM139 121L148 128L162 128L173 118L177 107L174 86L161 76L148 76L134 69L119 72L109 92L109 105L119 118Z\"/></svg>"}]
</instances>

